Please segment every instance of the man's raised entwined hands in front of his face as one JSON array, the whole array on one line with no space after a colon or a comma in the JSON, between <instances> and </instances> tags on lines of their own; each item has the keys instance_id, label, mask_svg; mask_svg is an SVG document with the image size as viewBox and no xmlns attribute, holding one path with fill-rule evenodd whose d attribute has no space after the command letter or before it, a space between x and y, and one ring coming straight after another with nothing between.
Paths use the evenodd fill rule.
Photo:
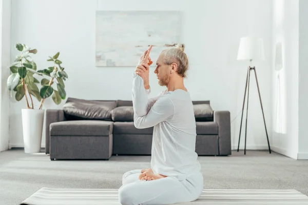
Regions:
<instances>
[{"instance_id":1,"label":"man's raised entwined hands in front of his face","mask_svg":"<svg viewBox=\"0 0 308 205\"><path fill-rule=\"evenodd\" d=\"M140 57L138 66L136 67L136 74L138 74L143 79L143 85L145 89L149 89L149 67L152 65L153 61L150 58L150 51L152 46L148 48L144 52L144 54Z\"/></svg>"}]
</instances>

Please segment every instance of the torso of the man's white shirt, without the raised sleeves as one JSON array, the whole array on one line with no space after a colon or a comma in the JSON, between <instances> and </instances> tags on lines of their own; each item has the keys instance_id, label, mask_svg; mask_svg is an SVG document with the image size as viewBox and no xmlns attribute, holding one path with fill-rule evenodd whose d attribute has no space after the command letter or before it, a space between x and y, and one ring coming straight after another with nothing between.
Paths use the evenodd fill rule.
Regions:
<instances>
[{"instance_id":1,"label":"torso of the man's white shirt, without the raised sleeves","mask_svg":"<svg viewBox=\"0 0 308 205\"><path fill-rule=\"evenodd\" d=\"M196 147L196 121L192 102L184 90L163 93L157 101L172 115L154 126L151 168L157 173L185 179L199 171ZM167 111L167 110L166 110Z\"/></svg>"}]
</instances>

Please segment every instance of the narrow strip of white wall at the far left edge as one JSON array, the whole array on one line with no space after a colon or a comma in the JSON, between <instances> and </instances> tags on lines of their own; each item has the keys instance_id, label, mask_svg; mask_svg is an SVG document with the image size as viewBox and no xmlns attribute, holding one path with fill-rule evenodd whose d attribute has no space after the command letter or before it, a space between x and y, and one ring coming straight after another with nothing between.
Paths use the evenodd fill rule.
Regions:
<instances>
[{"instance_id":1,"label":"narrow strip of white wall at the far left edge","mask_svg":"<svg viewBox=\"0 0 308 205\"><path fill-rule=\"evenodd\" d=\"M11 1L0 1L0 152L9 148L10 102L7 78L10 75Z\"/></svg>"}]
</instances>

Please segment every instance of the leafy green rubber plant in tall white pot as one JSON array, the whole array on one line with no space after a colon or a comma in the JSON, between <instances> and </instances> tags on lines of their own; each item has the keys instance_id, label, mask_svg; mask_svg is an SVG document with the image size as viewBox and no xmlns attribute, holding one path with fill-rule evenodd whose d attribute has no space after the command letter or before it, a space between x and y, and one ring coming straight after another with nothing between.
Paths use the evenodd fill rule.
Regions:
<instances>
[{"instance_id":1,"label":"leafy green rubber plant in tall white pot","mask_svg":"<svg viewBox=\"0 0 308 205\"><path fill-rule=\"evenodd\" d=\"M54 103L59 105L62 99L66 98L64 81L68 76L61 66L62 61L58 59L60 52L47 59L47 61L52 61L53 66L37 70L31 57L32 54L37 53L37 50L19 43L15 45L15 48L20 51L20 55L16 56L14 63L10 66L11 75L7 80L7 88L15 92L17 101L25 98L27 109L22 109L25 153L37 153L41 150L44 101L51 96ZM41 76L41 81L36 78L36 75ZM33 96L41 102L38 109L34 108Z\"/></svg>"}]
</instances>

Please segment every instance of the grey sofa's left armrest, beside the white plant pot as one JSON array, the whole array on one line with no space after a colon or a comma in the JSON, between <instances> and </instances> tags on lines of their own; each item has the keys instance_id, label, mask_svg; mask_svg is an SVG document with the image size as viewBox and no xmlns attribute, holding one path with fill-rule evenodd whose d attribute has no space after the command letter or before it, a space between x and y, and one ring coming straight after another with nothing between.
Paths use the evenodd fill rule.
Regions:
<instances>
[{"instance_id":1,"label":"grey sofa's left armrest, beside the white plant pot","mask_svg":"<svg viewBox=\"0 0 308 205\"><path fill-rule=\"evenodd\" d=\"M45 153L50 154L50 124L53 122L64 121L63 110L46 110L46 139L45 139Z\"/></svg>"}]
</instances>

